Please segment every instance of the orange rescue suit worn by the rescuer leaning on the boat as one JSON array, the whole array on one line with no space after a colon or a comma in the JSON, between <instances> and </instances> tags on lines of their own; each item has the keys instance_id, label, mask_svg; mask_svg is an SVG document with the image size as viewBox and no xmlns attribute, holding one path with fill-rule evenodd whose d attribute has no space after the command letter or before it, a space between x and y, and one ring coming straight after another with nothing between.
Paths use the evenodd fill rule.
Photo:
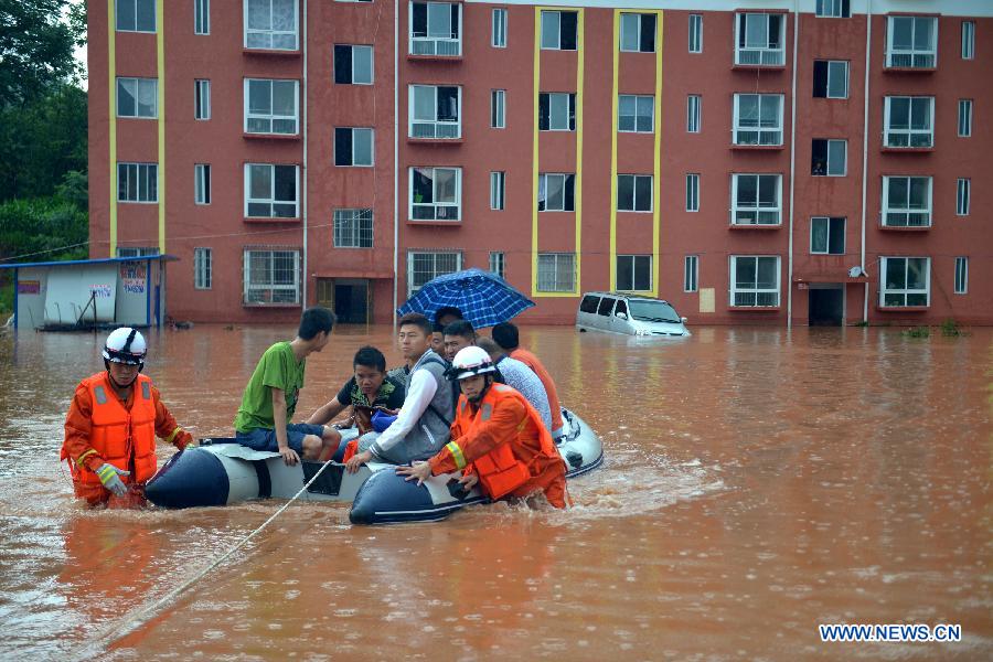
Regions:
<instances>
[{"instance_id":1,"label":"orange rescue suit worn by the rescuer leaning on the boat","mask_svg":"<svg viewBox=\"0 0 993 662\"><path fill-rule=\"evenodd\" d=\"M538 413L510 386L491 385L476 405L460 396L451 439L428 460L433 474L465 469L490 499L542 490L565 508L565 462Z\"/></svg>"}]
</instances>

